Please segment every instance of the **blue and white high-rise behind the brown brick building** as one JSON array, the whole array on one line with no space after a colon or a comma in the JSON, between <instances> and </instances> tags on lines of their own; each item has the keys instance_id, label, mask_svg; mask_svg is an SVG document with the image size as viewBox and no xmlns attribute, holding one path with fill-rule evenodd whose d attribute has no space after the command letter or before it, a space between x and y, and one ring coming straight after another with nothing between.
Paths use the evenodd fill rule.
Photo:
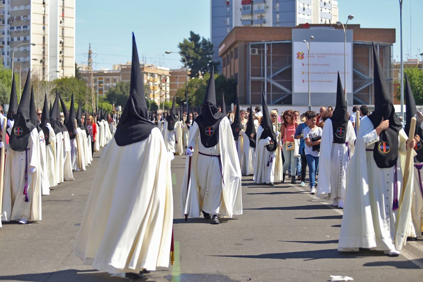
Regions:
<instances>
[{"instance_id":1,"label":"blue and white high-rise behind the brown brick building","mask_svg":"<svg viewBox=\"0 0 423 282\"><path fill-rule=\"evenodd\" d=\"M334 0L211 0L210 6L213 60L220 62L219 72L219 45L233 27L294 27L338 21L338 1Z\"/></svg>"}]
</instances>

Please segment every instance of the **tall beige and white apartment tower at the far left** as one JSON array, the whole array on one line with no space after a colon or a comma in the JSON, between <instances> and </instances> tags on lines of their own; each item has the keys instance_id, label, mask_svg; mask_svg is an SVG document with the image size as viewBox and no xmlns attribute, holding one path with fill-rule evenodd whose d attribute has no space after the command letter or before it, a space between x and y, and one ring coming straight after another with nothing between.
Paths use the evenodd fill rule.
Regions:
<instances>
[{"instance_id":1,"label":"tall beige and white apartment tower at the far left","mask_svg":"<svg viewBox=\"0 0 423 282\"><path fill-rule=\"evenodd\" d=\"M4 66L13 58L14 71L41 80L75 75L75 0L3 0L0 11Z\"/></svg>"}]
</instances>

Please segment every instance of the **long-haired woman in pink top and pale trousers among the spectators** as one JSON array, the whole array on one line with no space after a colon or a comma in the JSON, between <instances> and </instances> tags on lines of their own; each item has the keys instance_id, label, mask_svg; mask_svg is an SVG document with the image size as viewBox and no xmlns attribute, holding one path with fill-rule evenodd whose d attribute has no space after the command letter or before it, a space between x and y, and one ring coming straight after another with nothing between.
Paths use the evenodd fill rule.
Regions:
<instances>
[{"instance_id":1,"label":"long-haired woman in pink top and pale trousers among the spectators","mask_svg":"<svg viewBox=\"0 0 423 282\"><path fill-rule=\"evenodd\" d=\"M294 156L294 134L295 129L297 129L298 121L293 118L294 112L292 110L286 110L283 113L283 123L280 128L280 133L282 134L282 151L283 156L285 157L285 162L283 162L283 181L285 182L286 170L291 164L292 176L291 183L297 184L295 180L295 174L297 172L297 157ZM291 150L290 150L291 149Z\"/></svg>"}]
</instances>

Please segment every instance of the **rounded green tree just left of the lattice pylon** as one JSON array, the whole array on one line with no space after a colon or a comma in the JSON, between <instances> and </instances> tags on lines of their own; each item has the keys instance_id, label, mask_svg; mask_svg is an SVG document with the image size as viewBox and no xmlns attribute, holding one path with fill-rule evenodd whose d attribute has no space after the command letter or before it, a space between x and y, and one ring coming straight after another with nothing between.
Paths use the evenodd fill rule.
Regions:
<instances>
[{"instance_id":1,"label":"rounded green tree just left of the lattice pylon","mask_svg":"<svg viewBox=\"0 0 423 282\"><path fill-rule=\"evenodd\" d=\"M70 101L73 91L75 102L85 102L87 84L84 80L76 77L62 77L55 79L54 82L63 101Z\"/></svg>"}]
</instances>

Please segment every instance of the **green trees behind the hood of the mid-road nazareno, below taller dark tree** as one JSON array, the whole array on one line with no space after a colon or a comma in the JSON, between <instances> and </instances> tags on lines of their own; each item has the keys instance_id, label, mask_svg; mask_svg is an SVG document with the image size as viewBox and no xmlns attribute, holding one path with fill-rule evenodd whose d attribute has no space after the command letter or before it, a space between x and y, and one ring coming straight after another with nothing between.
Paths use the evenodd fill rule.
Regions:
<instances>
[{"instance_id":1,"label":"green trees behind the hood of the mid-road nazareno, below taller dark tree","mask_svg":"<svg viewBox=\"0 0 423 282\"><path fill-rule=\"evenodd\" d=\"M201 107L207 91L207 83L210 74L204 74L203 78L195 77L188 81L188 103L190 107ZM223 75L214 74L214 86L216 90L216 103L219 107L222 104L222 93L225 93L225 104L229 105L236 101L236 82L234 79L227 79ZM185 87L176 91L176 102L182 104L186 101Z\"/></svg>"}]
</instances>

